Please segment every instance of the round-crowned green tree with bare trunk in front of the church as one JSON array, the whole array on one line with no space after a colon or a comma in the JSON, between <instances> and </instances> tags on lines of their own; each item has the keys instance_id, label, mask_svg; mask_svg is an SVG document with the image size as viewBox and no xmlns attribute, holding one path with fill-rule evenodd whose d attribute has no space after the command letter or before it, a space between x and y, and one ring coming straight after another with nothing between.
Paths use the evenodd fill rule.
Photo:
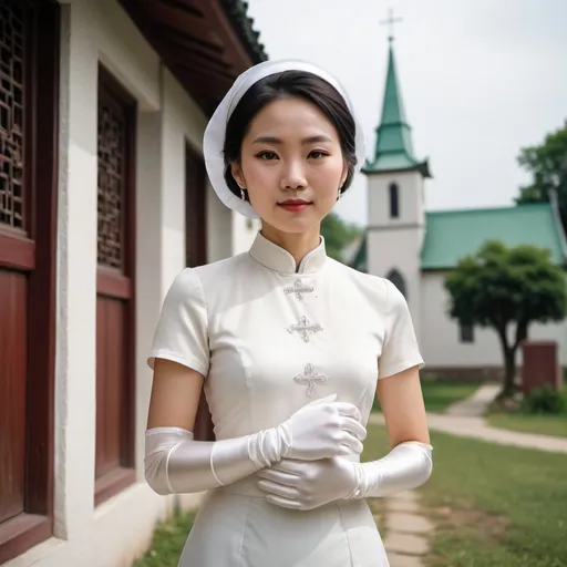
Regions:
<instances>
[{"instance_id":1,"label":"round-crowned green tree with bare trunk in front of the church","mask_svg":"<svg viewBox=\"0 0 567 567\"><path fill-rule=\"evenodd\" d=\"M549 250L486 243L446 277L450 315L464 324L492 327L504 355L502 396L515 390L516 351L533 322L560 321L567 309L563 268Z\"/></svg>"}]
</instances>

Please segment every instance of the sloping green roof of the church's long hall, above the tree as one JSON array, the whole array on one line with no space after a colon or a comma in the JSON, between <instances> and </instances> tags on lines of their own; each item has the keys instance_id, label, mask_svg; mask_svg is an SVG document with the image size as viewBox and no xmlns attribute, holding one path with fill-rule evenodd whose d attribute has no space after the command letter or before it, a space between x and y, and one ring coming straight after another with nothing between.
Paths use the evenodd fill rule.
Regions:
<instances>
[{"instance_id":1,"label":"sloping green roof of the church's long hall, above the tree","mask_svg":"<svg viewBox=\"0 0 567 567\"><path fill-rule=\"evenodd\" d=\"M439 210L425 214L425 239L421 251L424 270L451 269L487 240L506 246L532 245L551 251L565 264L567 248L558 216L549 203L513 207Z\"/></svg>"}]
</instances>

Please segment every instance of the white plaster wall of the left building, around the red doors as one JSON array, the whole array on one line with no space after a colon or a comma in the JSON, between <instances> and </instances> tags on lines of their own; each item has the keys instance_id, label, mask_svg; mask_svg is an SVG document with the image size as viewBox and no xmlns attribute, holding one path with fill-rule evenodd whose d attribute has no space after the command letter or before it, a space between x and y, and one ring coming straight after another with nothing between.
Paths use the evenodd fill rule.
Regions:
<instances>
[{"instance_id":1,"label":"white plaster wall of the left building, around the red doors","mask_svg":"<svg viewBox=\"0 0 567 567\"><path fill-rule=\"evenodd\" d=\"M103 62L138 101L136 472L138 483L94 508L96 109ZM163 297L184 267L185 137L205 118L114 0L62 6L58 225L54 537L7 567L130 567L174 498L143 480L151 373L145 365ZM228 214L229 216L229 214ZM221 227L223 224L218 223ZM230 227L224 225L228 239ZM227 247L230 249L230 246ZM194 506L200 495L179 498Z\"/></svg>"}]
</instances>

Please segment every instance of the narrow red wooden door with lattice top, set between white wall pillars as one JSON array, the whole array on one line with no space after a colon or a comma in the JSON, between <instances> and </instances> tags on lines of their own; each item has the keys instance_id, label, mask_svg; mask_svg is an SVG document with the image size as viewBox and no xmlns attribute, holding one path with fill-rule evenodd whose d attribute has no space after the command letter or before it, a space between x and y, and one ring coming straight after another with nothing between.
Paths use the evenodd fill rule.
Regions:
<instances>
[{"instance_id":1,"label":"narrow red wooden door with lattice top, set between white wall pillars","mask_svg":"<svg viewBox=\"0 0 567 567\"><path fill-rule=\"evenodd\" d=\"M135 102L99 81L95 503L134 475Z\"/></svg>"}]
</instances>

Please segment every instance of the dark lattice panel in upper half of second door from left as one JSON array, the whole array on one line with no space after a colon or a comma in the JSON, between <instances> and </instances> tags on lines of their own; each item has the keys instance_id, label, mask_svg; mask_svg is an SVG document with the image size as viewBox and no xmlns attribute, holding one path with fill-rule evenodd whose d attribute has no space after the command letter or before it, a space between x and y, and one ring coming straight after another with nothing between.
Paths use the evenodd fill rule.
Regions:
<instances>
[{"instance_id":1,"label":"dark lattice panel in upper half of second door from left","mask_svg":"<svg viewBox=\"0 0 567 567\"><path fill-rule=\"evenodd\" d=\"M102 87L99 96L99 245L101 266L124 269L127 115Z\"/></svg>"}]
</instances>

